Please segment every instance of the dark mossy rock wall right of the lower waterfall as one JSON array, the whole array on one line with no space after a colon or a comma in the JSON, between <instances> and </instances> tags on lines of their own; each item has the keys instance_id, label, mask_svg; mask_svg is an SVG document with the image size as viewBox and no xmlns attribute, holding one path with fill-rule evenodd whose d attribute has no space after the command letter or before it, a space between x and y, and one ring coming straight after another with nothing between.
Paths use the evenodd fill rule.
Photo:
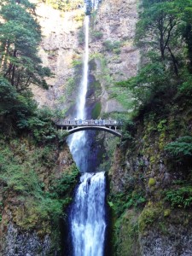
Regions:
<instances>
[{"instance_id":1,"label":"dark mossy rock wall right of the lower waterfall","mask_svg":"<svg viewBox=\"0 0 192 256\"><path fill-rule=\"evenodd\" d=\"M191 161L174 160L164 149L173 137L191 134L191 116L181 104L179 113L170 109L166 119L137 120L130 130L132 140L116 148L108 174L114 255L192 253L191 207L183 204L190 195L176 194L189 188Z\"/></svg>"}]
</instances>

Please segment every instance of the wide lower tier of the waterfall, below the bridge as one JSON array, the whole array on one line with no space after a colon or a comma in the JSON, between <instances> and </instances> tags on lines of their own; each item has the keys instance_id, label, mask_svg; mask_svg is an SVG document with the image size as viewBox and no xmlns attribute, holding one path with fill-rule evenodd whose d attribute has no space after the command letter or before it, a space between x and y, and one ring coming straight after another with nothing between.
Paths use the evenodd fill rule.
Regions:
<instances>
[{"instance_id":1,"label":"wide lower tier of the waterfall, below the bridge","mask_svg":"<svg viewBox=\"0 0 192 256\"><path fill-rule=\"evenodd\" d=\"M104 172L84 173L72 210L74 256L102 256L105 238Z\"/></svg>"}]
</instances>

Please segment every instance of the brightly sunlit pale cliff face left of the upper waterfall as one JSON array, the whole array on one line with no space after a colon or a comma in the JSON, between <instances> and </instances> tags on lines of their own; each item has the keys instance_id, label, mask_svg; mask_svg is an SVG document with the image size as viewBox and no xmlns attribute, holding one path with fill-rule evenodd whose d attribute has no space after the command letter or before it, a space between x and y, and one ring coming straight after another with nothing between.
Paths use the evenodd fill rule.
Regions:
<instances>
[{"instance_id":1,"label":"brightly sunlit pale cliff face left of the upper waterfall","mask_svg":"<svg viewBox=\"0 0 192 256\"><path fill-rule=\"evenodd\" d=\"M73 61L82 56L79 33L84 12L82 9L61 12L44 3L38 3L37 15L43 32L39 55L53 76L47 79L49 90L32 86L32 91L39 106L69 108L75 90Z\"/></svg>"}]
</instances>

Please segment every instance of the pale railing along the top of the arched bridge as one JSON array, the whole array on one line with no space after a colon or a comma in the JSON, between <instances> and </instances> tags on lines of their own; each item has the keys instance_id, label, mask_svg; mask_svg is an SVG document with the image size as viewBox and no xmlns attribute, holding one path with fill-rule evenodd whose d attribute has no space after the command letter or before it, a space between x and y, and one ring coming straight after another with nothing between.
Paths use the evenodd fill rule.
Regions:
<instances>
[{"instance_id":1,"label":"pale railing along the top of the arched bridge","mask_svg":"<svg viewBox=\"0 0 192 256\"><path fill-rule=\"evenodd\" d=\"M82 119L77 119L77 120L58 120L55 122L56 125L61 125L61 126L86 126L86 125L102 125L102 126L109 126L109 125L114 125L114 126L122 126L123 123L122 121L117 121L117 120L110 120L110 119L90 119L90 120L82 120Z\"/></svg>"}]
</instances>

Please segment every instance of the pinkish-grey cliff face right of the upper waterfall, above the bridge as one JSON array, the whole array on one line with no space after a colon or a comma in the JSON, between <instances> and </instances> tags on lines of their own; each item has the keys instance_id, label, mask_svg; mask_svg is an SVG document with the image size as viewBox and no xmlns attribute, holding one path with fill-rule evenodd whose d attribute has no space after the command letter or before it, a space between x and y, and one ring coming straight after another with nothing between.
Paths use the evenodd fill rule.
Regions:
<instances>
[{"instance_id":1,"label":"pinkish-grey cliff face right of the upper waterfall, above the bridge","mask_svg":"<svg viewBox=\"0 0 192 256\"><path fill-rule=\"evenodd\" d=\"M115 82L137 74L140 57L133 44L137 3L137 0L105 0L96 17L91 17L90 58L96 62L91 72L102 86L102 113L125 111L111 98L112 87Z\"/></svg>"}]
</instances>

